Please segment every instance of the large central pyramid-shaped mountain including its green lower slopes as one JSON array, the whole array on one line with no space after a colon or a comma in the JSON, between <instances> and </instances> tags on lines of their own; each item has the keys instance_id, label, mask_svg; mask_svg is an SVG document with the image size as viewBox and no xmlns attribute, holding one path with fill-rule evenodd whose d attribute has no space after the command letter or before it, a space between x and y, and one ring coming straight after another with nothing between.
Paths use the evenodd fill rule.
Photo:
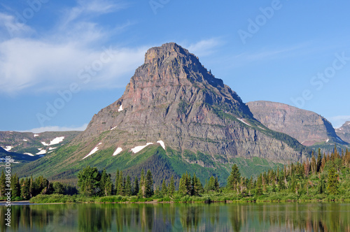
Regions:
<instances>
[{"instance_id":1,"label":"large central pyramid-shaped mountain including its green lower slopes","mask_svg":"<svg viewBox=\"0 0 350 232\"><path fill-rule=\"evenodd\" d=\"M83 133L20 170L57 177L87 165L126 173L147 166L162 170L156 179L197 170L225 181L234 163L251 175L309 154L294 138L258 122L195 55L166 43L146 52L123 96L94 115Z\"/></svg>"}]
</instances>

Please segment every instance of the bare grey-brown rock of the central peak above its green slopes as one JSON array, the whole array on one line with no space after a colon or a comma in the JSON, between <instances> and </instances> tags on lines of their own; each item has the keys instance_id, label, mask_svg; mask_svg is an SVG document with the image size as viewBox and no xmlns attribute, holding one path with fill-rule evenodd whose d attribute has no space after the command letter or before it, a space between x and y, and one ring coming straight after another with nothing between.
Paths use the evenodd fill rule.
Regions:
<instances>
[{"instance_id":1,"label":"bare grey-brown rock of the central peak above its green slopes","mask_svg":"<svg viewBox=\"0 0 350 232\"><path fill-rule=\"evenodd\" d=\"M230 87L176 43L148 50L123 96L94 115L72 145L85 145L76 152L81 159L98 143L99 150L130 151L158 140L214 160L219 155L226 161L262 157L286 163L308 155L293 138L287 143L272 136Z\"/></svg>"}]
</instances>

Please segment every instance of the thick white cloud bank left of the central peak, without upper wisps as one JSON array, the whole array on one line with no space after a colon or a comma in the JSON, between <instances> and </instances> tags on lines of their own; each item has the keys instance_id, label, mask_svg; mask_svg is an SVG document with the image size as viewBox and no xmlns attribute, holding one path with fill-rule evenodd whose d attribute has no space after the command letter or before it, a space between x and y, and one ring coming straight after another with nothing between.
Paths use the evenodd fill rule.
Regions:
<instances>
[{"instance_id":1,"label":"thick white cloud bank left of the central peak, without upper wisps","mask_svg":"<svg viewBox=\"0 0 350 232\"><path fill-rule=\"evenodd\" d=\"M74 43L48 43L14 38L0 43L0 92L8 94L30 90L55 91L71 82L83 82L80 71L86 70L90 82L83 88L115 87L120 78L130 75L144 60L146 48L112 48L112 56L104 55L106 48L89 50L77 48ZM101 62L104 55L106 62ZM96 66L92 74L90 66ZM79 74L80 73L80 74ZM123 84L125 84L123 82Z\"/></svg>"}]
</instances>

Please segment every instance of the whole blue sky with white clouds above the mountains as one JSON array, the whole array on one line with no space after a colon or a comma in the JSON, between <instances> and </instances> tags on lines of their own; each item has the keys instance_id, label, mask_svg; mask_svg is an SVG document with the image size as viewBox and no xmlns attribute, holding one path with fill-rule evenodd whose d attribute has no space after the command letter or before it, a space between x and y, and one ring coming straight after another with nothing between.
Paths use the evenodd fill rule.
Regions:
<instances>
[{"instance_id":1,"label":"whole blue sky with white clouds above the mountains","mask_svg":"<svg viewBox=\"0 0 350 232\"><path fill-rule=\"evenodd\" d=\"M350 120L349 1L0 3L0 131L84 129L176 42L248 101Z\"/></svg>"}]
</instances>

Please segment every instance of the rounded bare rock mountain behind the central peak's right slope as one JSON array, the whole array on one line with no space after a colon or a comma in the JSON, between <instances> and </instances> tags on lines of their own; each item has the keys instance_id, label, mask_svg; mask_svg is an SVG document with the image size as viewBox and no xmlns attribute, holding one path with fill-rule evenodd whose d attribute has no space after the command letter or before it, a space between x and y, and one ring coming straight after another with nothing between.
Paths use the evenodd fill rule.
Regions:
<instances>
[{"instance_id":1,"label":"rounded bare rock mountain behind the central peak's right slope","mask_svg":"<svg viewBox=\"0 0 350 232\"><path fill-rule=\"evenodd\" d=\"M271 101L252 101L247 104L255 119L269 129L296 138L302 145L330 142L344 144L337 137L332 124L314 112Z\"/></svg>"}]
</instances>

